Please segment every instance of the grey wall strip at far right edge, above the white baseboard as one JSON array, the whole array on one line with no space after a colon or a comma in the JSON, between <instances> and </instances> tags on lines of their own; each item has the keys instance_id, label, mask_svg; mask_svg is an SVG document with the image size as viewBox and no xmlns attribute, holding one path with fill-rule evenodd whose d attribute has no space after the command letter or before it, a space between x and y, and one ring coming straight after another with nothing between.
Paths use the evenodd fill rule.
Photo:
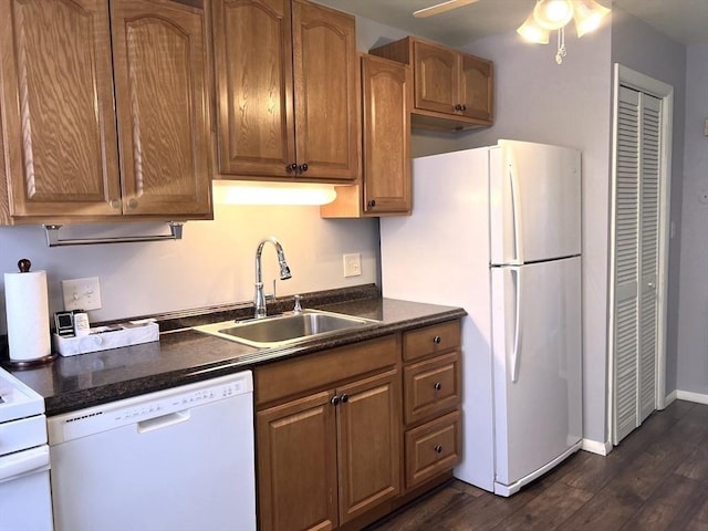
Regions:
<instances>
[{"instance_id":1,"label":"grey wall strip at far right edge, above the white baseboard","mask_svg":"<svg viewBox=\"0 0 708 531\"><path fill-rule=\"evenodd\" d=\"M708 44L689 46L686 63L677 387L708 395Z\"/></svg>"}]
</instances>

